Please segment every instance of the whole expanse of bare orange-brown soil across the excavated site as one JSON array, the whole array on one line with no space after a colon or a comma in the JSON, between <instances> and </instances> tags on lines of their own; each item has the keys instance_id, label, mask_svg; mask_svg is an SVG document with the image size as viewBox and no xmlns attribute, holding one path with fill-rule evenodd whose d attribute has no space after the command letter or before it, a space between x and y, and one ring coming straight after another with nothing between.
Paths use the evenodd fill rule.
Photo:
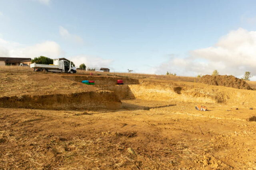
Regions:
<instances>
[{"instance_id":1,"label":"whole expanse of bare orange-brown soil across the excavated site","mask_svg":"<svg viewBox=\"0 0 256 170\"><path fill-rule=\"evenodd\" d=\"M75 99L72 95L89 92L93 100L89 107L88 96L81 96L84 108L70 107L78 100L62 104L54 98L57 109L2 105L1 168L256 168L256 91L156 79L90 86L62 76L1 73L6 104L6 98L23 94L39 94L40 101L40 96L68 93ZM120 106L97 107L107 101ZM209 111L197 111L198 104Z\"/></svg>"}]
</instances>

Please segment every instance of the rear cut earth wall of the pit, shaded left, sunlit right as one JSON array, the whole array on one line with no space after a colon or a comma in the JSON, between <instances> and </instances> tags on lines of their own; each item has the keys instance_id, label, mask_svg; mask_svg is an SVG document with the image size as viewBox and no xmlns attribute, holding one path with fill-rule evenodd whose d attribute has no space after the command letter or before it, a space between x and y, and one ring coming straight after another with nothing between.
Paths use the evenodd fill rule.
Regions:
<instances>
[{"instance_id":1,"label":"rear cut earth wall of the pit, shaded left, sunlit right","mask_svg":"<svg viewBox=\"0 0 256 170\"><path fill-rule=\"evenodd\" d=\"M194 88L193 86L178 86L177 84L152 83L150 80L139 80L132 78L122 78L124 85L116 85L116 80L121 78L106 76L62 76L68 80L81 82L82 80L94 80L94 87L102 90L114 92L120 100L142 99L155 101L181 101L181 102L198 102L198 103L241 103L252 102L247 98L248 92L236 89L219 90L218 88ZM88 85L87 85L88 86ZM253 92L252 92L253 93ZM234 97L233 97L234 96ZM250 94L251 97L254 94ZM255 98L255 97L254 97Z\"/></svg>"}]
</instances>

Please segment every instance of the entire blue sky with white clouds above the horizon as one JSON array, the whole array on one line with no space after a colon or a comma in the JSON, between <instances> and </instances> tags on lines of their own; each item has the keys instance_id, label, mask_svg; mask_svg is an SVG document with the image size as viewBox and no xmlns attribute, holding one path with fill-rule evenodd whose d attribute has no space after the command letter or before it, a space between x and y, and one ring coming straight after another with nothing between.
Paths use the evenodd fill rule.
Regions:
<instances>
[{"instance_id":1,"label":"entire blue sky with white clouds above the horizon","mask_svg":"<svg viewBox=\"0 0 256 170\"><path fill-rule=\"evenodd\" d=\"M0 57L66 57L112 72L256 75L255 9L255 0L0 0Z\"/></svg>"}]
</instances>

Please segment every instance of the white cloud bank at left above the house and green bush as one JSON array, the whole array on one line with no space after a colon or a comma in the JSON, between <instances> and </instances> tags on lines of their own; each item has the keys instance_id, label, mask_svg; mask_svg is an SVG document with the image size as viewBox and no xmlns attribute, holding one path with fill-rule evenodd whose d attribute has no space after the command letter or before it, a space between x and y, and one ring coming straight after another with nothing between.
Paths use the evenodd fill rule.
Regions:
<instances>
[{"instance_id":1,"label":"white cloud bank at left above the house and green bush","mask_svg":"<svg viewBox=\"0 0 256 170\"><path fill-rule=\"evenodd\" d=\"M25 46L0 39L0 57L34 58L43 55L50 58L58 58L63 53L60 45L54 41L44 41L43 43Z\"/></svg>"}]
</instances>

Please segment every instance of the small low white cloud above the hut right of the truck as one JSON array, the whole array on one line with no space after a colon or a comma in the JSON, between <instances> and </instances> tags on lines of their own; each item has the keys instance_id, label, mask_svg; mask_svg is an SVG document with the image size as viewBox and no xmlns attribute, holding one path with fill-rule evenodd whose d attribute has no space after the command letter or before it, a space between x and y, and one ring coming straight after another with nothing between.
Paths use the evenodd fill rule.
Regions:
<instances>
[{"instance_id":1,"label":"small low white cloud above the hut right of the truck","mask_svg":"<svg viewBox=\"0 0 256 170\"><path fill-rule=\"evenodd\" d=\"M109 67L113 62L112 60L102 59L100 57L89 56L89 55L76 55L70 58L76 66L84 63L87 67Z\"/></svg>"}]
</instances>

